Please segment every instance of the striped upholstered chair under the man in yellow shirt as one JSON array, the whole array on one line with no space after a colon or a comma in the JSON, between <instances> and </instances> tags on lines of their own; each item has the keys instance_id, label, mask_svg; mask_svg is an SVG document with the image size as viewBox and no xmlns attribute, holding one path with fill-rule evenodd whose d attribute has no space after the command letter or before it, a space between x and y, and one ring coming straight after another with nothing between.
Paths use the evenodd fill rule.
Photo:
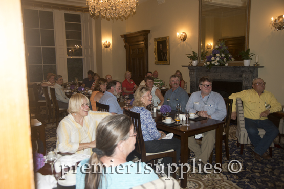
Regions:
<instances>
[{"instance_id":1,"label":"striped upholstered chair under the man in yellow shirt","mask_svg":"<svg viewBox=\"0 0 284 189\"><path fill-rule=\"evenodd\" d=\"M251 144L250 138L248 136L248 132L245 128L245 115L243 109L243 101L241 98L236 99L236 113L237 113L237 130L236 130L236 137L237 137L237 147L241 144L241 151L239 154L243 154L244 144ZM265 130L258 128L259 136L262 138L265 135ZM269 147L269 155L272 157L272 147L274 147L274 143Z\"/></svg>"}]
</instances>

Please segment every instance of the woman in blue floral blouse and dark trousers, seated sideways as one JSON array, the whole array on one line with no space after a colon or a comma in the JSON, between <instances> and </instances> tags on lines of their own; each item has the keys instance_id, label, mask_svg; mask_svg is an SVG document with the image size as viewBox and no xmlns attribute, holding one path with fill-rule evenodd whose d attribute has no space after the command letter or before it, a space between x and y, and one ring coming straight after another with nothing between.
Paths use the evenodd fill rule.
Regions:
<instances>
[{"instance_id":1,"label":"woman in blue floral blouse and dark trousers, seated sideways","mask_svg":"<svg viewBox=\"0 0 284 189\"><path fill-rule=\"evenodd\" d=\"M170 149L177 151L177 162L172 162L170 157L163 158L162 163L166 168L168 163L179 162L181 141L177 138L163 139L166 134L163 131L158 131L151 112L146 109L146 106L151 104L151 100L152 96L149 88L145 86L138 87L134 94L133 108L130 111L140 113L141 129L147 153L164 152Z\"/></svg>"}]
</instances>

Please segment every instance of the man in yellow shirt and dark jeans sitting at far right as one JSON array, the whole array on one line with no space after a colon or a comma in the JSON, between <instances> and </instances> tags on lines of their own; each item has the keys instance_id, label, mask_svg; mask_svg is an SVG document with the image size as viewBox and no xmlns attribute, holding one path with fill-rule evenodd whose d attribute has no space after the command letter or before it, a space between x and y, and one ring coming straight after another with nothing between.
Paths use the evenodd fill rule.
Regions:
<instances>
[{"instance_id":1,"label":"man in yellow shirt and dark jeans sitting at far right","mask_svg":"<svg viewBox=\"0 0 284 189\"><path fill-rule=\"evenodd\" d=\"M268 114L280 111L281 104L276 100L271 92L265 90L265 82L261 78L252 81L252 89L233 93L229 99L233 99L231 119L236 119L236 98L241 98L244 103L245 128L248 132L251 143L254 146L252 152L254 158L261 161L270 159L266 150L269 148L275 137L278 135L278 128L267 119ZM265 130L265 135L261 138L257 128Z\"/></svg>"}]
</instances>

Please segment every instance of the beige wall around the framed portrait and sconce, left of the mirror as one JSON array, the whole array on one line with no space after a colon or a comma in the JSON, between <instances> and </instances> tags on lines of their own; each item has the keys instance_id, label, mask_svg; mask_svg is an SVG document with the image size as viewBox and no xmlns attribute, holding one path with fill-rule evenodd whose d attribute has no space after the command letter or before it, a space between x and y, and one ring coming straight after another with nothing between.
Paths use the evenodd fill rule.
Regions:
<instances>
[{"instance_id":1,"label":"beige wall around the framed portrait and sconce, left of the mirror","mask_svg":"<svg viewBox=\"0 0 284 189\"><path fill-rule=\"evenodd\" d=\"M166 0L158 5L156 0L139 4L136 14L126 20L126 33L151 30L148 35L149 70L158 70L159 78L169 86L169 76L180 70L189 82L187 53L198 50L198 0ZM187 40L181 42L177 32L186 32ZM155 65L154 38L169 36L170 65ZM189 87L188 92L189 92Z\"/></svg>"}]
</instances>

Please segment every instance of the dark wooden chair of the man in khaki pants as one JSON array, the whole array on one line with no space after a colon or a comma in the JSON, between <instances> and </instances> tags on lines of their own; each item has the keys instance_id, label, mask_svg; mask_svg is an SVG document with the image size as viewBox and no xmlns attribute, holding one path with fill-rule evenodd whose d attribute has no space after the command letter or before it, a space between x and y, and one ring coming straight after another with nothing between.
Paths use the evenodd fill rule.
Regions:
<instances>
[{"instance_id":1,"label":"dark wooden chair of the man in khaki pants","mask_svg":"<svg viewBox=\"0 0 284 189\"><path fill-rule=\"evenodd\" d=\"M232 104L233 100L232 99L225 99L225 104L226 104L226 110L227 110L227 116L223 120L225 124L223 125L223 140L225 143L225 150L226 150L226 157L227 160L230 159L230 153L229 153L229 130L230 130L230 121L231 121L231 115L232 115ZM213 151L211 152L211 155L209 157L209 163L212 164L212 157L213 157Z\"/></svg>"}]
</instances>

